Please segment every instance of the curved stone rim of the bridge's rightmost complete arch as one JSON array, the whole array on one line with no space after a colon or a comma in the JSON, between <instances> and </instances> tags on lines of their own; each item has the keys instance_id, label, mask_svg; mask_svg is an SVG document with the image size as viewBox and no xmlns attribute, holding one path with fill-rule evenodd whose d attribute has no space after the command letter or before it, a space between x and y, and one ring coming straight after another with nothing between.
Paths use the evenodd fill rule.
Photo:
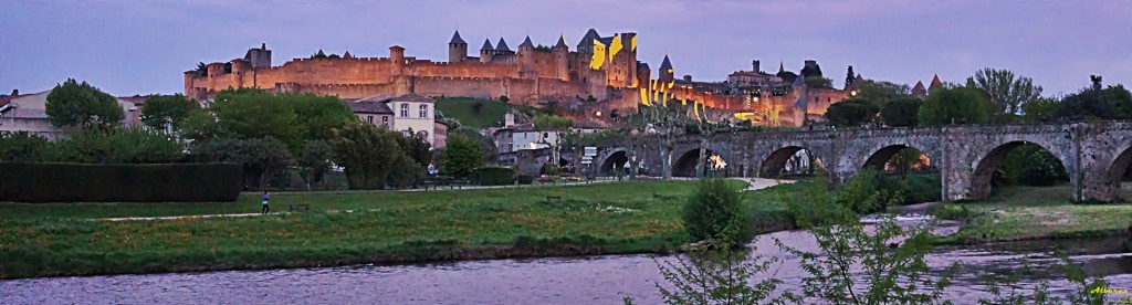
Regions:
<instances>
[{"instance_id":1,"label":"curved stone rim of the bridge's rightmost complete arch","mask_svg":"<svg viewBox=\"0 0 1132 305\"><path fill-rule=\"evenodd\" d=\"M1065 159L1065 151L1056 150L1056 147L1050 143L1032 142L1027 140L1010 140L1001 142L975 160L975 172L971 173L970 186L967 190L967 199L981 200L989 197L993 186L992 183L994 173L997 171L998 165L1002 164L1010 151L1027 143L1037 145L1041 147L1041 149L1049 151L1061 163L1062 168L1065 168L1066 172L1071 171L1070 168L1072 168L1072 164ZM1077 183L1077 177L1070 175L1070 183Z\"/></svg>"}]
</instances>

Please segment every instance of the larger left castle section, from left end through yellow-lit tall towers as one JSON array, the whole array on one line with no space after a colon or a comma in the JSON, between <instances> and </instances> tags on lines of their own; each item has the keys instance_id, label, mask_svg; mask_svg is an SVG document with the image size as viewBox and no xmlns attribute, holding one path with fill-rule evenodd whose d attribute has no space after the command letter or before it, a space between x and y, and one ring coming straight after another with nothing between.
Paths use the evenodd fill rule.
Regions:
<instances>
[{"instance_id":1,"label":"larger left castle section, from left end through yellow-lit tall towers","mask_svg":"<svg viewBox=\"0 0 1132 305\"><path fill-rule=\"evenodd\" d=\"M251 49L242 59L213 62L205 71L185 72L185 94L204 99L225 88L261 88L363 98L379 94L427 96L509 97L513 103L537 104L541 99L584 99L593 96L618 108L640 103L636 34L601 37L590 29L569 51L565 37L552 47L535 47L530 37L512 51L500 38L484 42L479 56L468 55L468 43L455 33L448 43L448 61L432 62L405 56L405 49L389 47L388 58L294 59L272 67L266 45Z\"/></svg>"}]
</instances>

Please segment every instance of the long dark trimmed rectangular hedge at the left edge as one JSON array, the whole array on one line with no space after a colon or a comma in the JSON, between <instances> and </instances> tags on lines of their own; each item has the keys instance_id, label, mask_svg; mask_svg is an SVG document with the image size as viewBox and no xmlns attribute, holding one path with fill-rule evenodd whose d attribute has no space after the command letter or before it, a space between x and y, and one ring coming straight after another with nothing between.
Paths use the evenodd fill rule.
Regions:
<instances>
[{"instance_id":1,"label":"long dark trimmed rectangular hedge at the left edge","mask_svg":"<svg viewBox=\"0 0 1132 305\"><path fill-rule=\"evenodd\" d=\"M239 164L0 163L0 201L217 202L240 195Z\"/></svg>"}]
</instances>

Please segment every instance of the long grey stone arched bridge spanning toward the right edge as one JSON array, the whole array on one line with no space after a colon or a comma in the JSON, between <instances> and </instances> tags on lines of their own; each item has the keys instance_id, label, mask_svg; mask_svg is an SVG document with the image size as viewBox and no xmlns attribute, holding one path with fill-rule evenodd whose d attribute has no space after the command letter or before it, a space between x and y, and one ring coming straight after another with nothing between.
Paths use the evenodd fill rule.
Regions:
<instances>
[{"instance_id":1,"label":"long grey stone arched bridge spanning toward the right edge","mask_svg":"<svg viewBox=\"0 0 1132 305\"><path fill-rule=\"evenodd\" d=\"M595 168L608 173L636 157L643 171L661 175L661 141L644 139L638 142L636 149L627 141L599 146L593 162ZM728 163L727 175L758 177L778 176L789 158L805 149L833 182L840 183L861 168L883 167L898 151L912 147L924 151L940 169L943 199L955 201L989 195L995 168L1006 152L1027 142L1041 146L1061 160L1070 176L1074 201L1115 200L1121 177L1132 162L1132 123L1115 121L735 132L709 138L706 148L710 155L719 155ZM670 157L674 175L693 175L698 149L696 137L675 141ZM541 166L549 152L528 155L512 157L512 162L528 167ZM580 151L564 151L564 163L578 164L578 155Z\"/></svg>"}]
</instances>

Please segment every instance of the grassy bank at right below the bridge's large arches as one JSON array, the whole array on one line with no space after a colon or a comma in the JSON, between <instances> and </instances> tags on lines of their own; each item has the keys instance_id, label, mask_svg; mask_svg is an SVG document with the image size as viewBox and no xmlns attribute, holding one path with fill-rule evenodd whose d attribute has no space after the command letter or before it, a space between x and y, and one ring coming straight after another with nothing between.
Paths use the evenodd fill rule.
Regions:
<instances>
[{"instance_id":1,"label":"grassy bank at right below the bridge's large arches","mask_svg":"<svg viewBox=\"0 0 1132 305\"><path fill-rule=\"evenodd\" d=\"M1067 185L1015 186L986 201L949 204L942 209L966 207L969 216L967 225L944 242L1101 236L1126 233L1132 225L1132 204L1078 204L1069 199Z\"/></svg>"}]
</instances>

